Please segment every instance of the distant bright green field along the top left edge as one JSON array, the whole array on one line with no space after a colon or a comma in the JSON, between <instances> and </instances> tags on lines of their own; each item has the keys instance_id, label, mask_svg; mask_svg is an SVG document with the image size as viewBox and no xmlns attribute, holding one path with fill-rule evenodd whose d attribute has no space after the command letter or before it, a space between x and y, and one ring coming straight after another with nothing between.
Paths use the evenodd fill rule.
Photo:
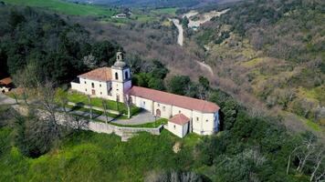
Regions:
<instances>
[{"instance_id":1,"label":"distant bright green field along the top left edge","mask_svg":"<svg viewBox=\"0 0 325 182\"><path fill-rule=\"evenodd\" d=\"M28 5L47 8L66 15L91 15L110 17L117 13L113 8L105 8L97 5L80 5L60 0L3 0L11 5Z\"/></svg>"}]
</instances>

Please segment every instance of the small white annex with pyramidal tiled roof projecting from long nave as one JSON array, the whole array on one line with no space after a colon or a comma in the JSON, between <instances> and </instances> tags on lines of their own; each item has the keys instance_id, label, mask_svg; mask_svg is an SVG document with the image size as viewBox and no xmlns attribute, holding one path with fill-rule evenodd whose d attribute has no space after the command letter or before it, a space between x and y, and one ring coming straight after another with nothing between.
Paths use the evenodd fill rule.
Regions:
<instances>
[{"instance_id":1,"label":"small white annex with pyramidal tiled roof projecting from long nave","mask_svg":"<svg viewBox=\"0 0 325 182\"><path fill-rule=\"evenodd\" d=\"M190 118L177 114L168 120L167 129L175 136L183 137L189 131Z\"/></svg>"}]
</instances>

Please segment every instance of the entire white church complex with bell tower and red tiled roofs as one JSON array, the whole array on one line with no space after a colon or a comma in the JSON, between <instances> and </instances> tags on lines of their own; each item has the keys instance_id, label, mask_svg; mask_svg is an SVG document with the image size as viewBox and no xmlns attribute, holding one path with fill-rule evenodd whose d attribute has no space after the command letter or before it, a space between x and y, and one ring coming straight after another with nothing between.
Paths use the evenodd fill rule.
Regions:
<instances>
[{"instance_id":1,"label":"entire white church complex with bell tower and red tiled roofs","mask_svg":"<svg viewBox=\"0 0 325 182\"><path fill-rule=\"evenodd\" d=\"M152 115L169 119L168 129L176 136L182 137L187 132L211 135L219 130L220 107L215 103L132 86L131 70L122 61L121 52L117 54L114 66L101 67L78 77L78 81L71 82L71 89L119 102L129 98L133 105L142 107ZM175 122L177 119L182 122Z\"/></svg>"}]
</instances>

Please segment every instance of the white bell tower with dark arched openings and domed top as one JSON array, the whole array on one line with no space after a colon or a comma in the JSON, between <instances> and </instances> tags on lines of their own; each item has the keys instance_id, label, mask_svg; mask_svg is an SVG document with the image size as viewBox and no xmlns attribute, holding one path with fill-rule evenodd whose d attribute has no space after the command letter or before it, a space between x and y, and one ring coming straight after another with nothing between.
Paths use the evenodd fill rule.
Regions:
<instances>
[{"instance_id":1,"label":"white bell tower with dark arched openings and domed top","mask_svg":"<svg viewBox=\"0 0 325 182\"><path fill-rule=\"evenodd\" d=\"M118 102L124 102L124 94L131 88L131 70L123 61L123 53L118 51L116 62L111 66L111 87L113 99Z\"/></svg>"}]
</instances>

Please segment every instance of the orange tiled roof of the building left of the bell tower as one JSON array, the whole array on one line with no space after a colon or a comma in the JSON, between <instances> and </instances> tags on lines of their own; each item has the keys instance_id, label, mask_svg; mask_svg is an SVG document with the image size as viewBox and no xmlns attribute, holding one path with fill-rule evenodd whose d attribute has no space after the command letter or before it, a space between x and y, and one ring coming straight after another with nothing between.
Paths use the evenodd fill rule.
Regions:
<instances>
[{"instance_id":1,"label":"orange tiled roof of the building left of the bell tower","mask_svg":"<svg viewBox=\"0 0 325 182\"><path fill-rule=\"evenodd\" d=\"M110 67L100 67L79 75L79 77L106 82L111 80L111 69Z\"/></svg>"}]
</instances>

